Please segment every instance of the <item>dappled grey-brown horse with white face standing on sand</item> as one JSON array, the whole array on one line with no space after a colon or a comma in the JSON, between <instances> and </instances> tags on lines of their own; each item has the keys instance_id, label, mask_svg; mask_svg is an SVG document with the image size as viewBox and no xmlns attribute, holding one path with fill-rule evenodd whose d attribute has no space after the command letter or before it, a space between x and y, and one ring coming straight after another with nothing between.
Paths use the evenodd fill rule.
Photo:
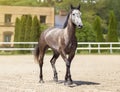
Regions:
<instances>
[{"instance_id":1,"label":"dappled grey-brown horse with white face standing on sand","mask_svg":"<svg viewBox=\"0 0 120 92\"><path fill-rule=\"evenodd\" d=\"M58 75L55 67L57 58L61 55L66 64L65 85L71 85L73 83L70 73L71 62L75 56L77 48L77 38L75 36L76 27L82 28L83 23L81 20L80 4L77 7L72 5L70 12L66 17L63 28L51 27L43 31L40 35L38 45L35 48L35 59L37 60L40 68L40 83L43 81L43 58L45 51L51 48L53 51L53 57L50 60L53 69L53 80L58 82ZM67 57L68 55L68 57Z\"/></svg>"}]
</instances>

